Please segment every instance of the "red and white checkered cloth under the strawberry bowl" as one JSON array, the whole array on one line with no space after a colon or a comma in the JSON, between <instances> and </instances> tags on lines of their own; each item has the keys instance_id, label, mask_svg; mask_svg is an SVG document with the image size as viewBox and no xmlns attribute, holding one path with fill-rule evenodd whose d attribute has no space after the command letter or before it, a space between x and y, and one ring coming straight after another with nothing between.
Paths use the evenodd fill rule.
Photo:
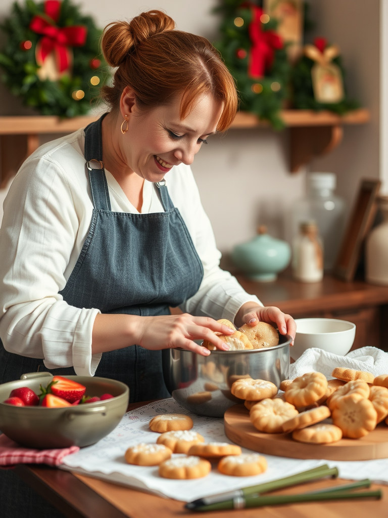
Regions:
<instances>
[{"instance_id":1,"label":"red and white checkered cloth under the strawberry bowl","mask_svg":"<svg viewBox=\"0 0 388 518\"><path fill-rule=\"evenodd\" d=\"M59 466L63 457L76 453L79 446L60 448L56 450L34 450L25 448L17 442L8 439L4 434L0 435L0 466L10 466L13 464L48 464L49 466Z\"/></svg>"}]
</instances>

